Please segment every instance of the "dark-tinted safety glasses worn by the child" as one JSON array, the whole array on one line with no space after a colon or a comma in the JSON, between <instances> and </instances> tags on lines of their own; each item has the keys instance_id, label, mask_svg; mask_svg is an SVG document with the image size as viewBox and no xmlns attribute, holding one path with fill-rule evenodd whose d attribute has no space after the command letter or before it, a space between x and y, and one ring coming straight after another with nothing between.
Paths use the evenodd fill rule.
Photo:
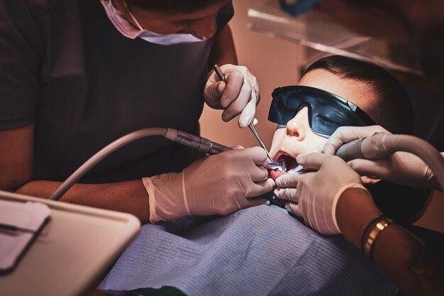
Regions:
<instances>
[{"instance_id":1,"label":"dark-tinted safety glasses worn by the child","mask_svg":"<svg viewBox=\"0 0 444 296\"><path fill-rule=\"evenodd\" d=\"M346 99L314 87L278 87L272 92L268 120L287 126L304 106L309 109L309 124L314 133L328 138L340 126L372 126L374 121ZM279 127L278 126L278 127Z\"/></svg>"}]
</instances>

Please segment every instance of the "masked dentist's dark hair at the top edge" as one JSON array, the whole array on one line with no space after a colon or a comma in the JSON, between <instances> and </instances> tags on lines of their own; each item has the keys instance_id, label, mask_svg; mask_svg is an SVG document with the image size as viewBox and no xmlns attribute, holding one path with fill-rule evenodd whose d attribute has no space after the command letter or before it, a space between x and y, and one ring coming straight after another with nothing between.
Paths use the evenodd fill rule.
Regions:
<instances>
[{"instance_id":1,"label":"masked dentist's dark hair at the top edge","mask_svg":"<svg viewBox=\"0 0 444 296\"><path fill-rule=\"evenodd\" d=\"M191 12L221 0L126 0L128 4L152 11Z\"/></svg>"}]
</instances>

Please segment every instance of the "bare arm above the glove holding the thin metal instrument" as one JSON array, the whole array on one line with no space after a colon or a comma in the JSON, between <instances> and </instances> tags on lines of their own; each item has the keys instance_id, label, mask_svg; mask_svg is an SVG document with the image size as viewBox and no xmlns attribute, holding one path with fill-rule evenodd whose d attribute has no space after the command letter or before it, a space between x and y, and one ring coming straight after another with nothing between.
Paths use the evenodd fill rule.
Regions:
<instances>
[{"instance_id":1,"label":"bare arm above the glove holding the thin metal instrument","mask_svg":"<svg viewBox=\"0 0 444 296\"><path fill-rule=\"evenodd\" d=\"M238 57L234 47L233 35L231 28L226 25L214 36L213 47L211 48L208 65L209 69L213 68L214 64L238 65Z\"/></svg>"}]
</instances>

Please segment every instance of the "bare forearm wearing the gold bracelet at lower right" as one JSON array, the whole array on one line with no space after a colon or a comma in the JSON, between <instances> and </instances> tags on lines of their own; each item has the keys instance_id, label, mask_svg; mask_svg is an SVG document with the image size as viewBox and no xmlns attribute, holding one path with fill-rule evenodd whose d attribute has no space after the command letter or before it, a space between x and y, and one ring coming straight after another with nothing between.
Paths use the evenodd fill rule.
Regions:
<instances>
[{"instance_id":1,"label":"bare forearm wearing the gold bracelet at lower right","mask_svg":"<svg viewBox=\"0 0 444 296\"><path fill-rule=\"evenodd\" d=\"M345 239L360 248L362 230L381 214L372 199L359 189L346 190L336 216ZM373 261L399 285L405 295L444 295L444 270L438 258L400 226L392 225L373 244Z\"/></svg>"}]
</instances>

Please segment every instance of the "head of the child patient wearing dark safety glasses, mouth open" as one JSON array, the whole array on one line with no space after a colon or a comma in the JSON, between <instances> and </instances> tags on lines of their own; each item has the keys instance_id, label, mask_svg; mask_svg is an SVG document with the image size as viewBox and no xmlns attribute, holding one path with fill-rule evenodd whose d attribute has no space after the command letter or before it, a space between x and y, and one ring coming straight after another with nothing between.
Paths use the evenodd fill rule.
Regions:
<instances>
[{"instance_id":1,"label":"head of the child patient wearing dark safety glasses, mouth open","mask_svg":"<svg viewBox=\"0 0 444 296\"><path fill-rule=\"evenodd\" d=\"M325 142L339 126L378 124L392 133L411 133L413 125L409 96L389 72L339 55L317 60L297 86L279 87L272 96L269 120L278 126L270 155L287 170L296 167L299 153Z\"/></svg>"}]
</instances>

